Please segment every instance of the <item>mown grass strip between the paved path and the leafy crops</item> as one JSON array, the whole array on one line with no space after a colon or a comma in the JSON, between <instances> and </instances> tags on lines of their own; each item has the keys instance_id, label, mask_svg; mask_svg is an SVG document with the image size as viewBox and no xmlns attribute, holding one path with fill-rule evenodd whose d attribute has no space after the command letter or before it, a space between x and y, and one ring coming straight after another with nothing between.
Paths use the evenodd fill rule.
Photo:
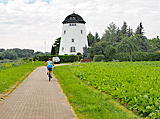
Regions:
<instances>
[{"instance_id":1,"label":"mown grass strip between the paved path and the leafy crops","mask_svg":"<svg viewBox=\"0 0 160 119\"><path fill-rule=\"evenodd\" d=\"M53 72L79 119L138 118L117 106L110 96L81 82L69 72L68 67L55 67Z\"/></svg>"}]
</instances>

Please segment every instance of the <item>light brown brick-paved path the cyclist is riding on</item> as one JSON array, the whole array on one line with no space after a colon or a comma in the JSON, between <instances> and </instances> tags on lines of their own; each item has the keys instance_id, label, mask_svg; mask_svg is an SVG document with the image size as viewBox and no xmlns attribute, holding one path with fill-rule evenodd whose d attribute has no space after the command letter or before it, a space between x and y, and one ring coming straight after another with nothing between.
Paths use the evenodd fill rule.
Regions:
<instances>
[{"instance_id":1,"label":"light brown brick-paved path the cyclist is riding on","mask_svg":"<svg viewBox=\"0 0 160 119\"><path fill-rule=\"evenodd\" d=\"M57 80L39 67L0 104L0 119L75 119Z\"/></svg>"}]
</instances>

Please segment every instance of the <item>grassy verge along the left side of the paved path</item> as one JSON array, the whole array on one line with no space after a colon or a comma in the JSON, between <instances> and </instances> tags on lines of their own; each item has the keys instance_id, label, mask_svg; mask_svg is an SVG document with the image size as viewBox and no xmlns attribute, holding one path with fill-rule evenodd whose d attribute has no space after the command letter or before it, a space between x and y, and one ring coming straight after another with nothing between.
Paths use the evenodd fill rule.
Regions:
<instances>
[{"instance_id":1,"label":"grassy verge along the left side of the paved path","mask_svg":"<svg viewBox=\"0 0 160 119\"><path fill-rule=\"evenodd\" d=\"M6 93L11 87L16 87L22 82L36 67L44 66L44 62L32 62L11 67L5 70L0 70L0 94Z\"/></svg>"}]
</instances>

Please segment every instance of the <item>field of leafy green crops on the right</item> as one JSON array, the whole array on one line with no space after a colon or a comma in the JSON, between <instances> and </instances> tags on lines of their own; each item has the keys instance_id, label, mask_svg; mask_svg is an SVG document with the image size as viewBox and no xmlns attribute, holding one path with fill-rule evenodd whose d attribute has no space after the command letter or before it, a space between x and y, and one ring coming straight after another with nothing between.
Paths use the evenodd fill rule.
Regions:
<instances>
[{"instance_id":1,"label":"field of leafy green crops on the right","mask_svg":"<svg viewBox=\"0 0 160 119\"><path fill-rule=\"evenodd\" d=\"M140 116L160 118L160 62L94 62L69 70Z\"/></svg>"}]
</instances>

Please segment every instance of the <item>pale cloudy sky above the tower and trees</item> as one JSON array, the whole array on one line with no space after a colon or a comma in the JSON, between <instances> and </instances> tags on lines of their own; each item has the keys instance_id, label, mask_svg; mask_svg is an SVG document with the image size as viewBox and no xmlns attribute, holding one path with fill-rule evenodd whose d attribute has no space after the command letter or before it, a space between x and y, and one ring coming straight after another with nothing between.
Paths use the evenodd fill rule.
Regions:
<instances>
[{"instance_id":1,"label":"pale cloudy sky above the tower and trees","mask_svg":"<svg viewBox=\"0 0 160 119\"><path fill-rule=\"evenodd\" d=\"M103 36L111 22L142 22L145 36L160 36L160 0L0 0L0 48L50 52L62 22L75 11L86 21L86 35Z\"/></svg>"}]
</instances>

